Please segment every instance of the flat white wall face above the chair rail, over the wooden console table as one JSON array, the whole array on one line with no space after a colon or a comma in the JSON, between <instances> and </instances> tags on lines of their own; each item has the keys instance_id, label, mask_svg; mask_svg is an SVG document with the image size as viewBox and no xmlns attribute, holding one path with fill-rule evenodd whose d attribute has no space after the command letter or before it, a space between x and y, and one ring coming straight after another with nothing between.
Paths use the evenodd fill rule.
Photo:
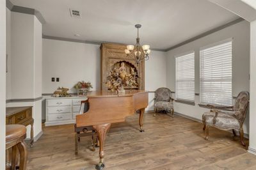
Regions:
<instances>
[{"instance_id":1,"label":"flat white wall face above the chair rail, over the wooden console table","mask_svg":"<svg viewBox=\"0 0 256 170\"><path fill-rule=\"evenodd\" d=\"M34 17L12 12L12 98L33 98Z\"/></svg>"}]
</instances>

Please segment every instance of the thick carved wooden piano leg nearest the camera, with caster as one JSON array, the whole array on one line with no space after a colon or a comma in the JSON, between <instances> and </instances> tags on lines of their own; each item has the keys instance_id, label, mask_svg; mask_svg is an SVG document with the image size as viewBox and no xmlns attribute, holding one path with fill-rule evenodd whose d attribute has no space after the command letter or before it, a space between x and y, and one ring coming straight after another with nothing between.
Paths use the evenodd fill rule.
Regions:
<instances>
[{"instance_id":1,"label":"thick carved wooden piano leg nearest the camera, with caster","mask_svg":"<svg viewBox=\"0 0 256 170\"><path fill-rule=\"evenodd\" d=\"M108 134L108 130L110 128L111 123L106 123L102 125L93 125L93 128L97 131L98 137L99 137L99 142L100 142L100 149L99 149L99 157L100 157L100 162L95 166L95 169L101 170L105 167L103 164L104 160L104 141L106 139L106 136Z\"/></svg>"}]
</instances>

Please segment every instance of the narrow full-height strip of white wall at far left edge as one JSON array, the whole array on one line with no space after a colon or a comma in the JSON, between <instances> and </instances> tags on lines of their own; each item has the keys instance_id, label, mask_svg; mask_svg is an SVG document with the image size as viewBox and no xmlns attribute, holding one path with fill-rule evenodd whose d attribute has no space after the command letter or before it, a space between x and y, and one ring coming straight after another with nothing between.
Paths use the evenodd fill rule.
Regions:
<instances>
[{"instance_id":1,"label":"narrow full-height strip of white wall at far left edge","mask_svg":"<svg viewBox=\"0 0 256 170\"><path fill-rule=\"evenodd\" d=\"M0 0L0 169L5 169L6 4Z\"/></svg>"}]
</instances>

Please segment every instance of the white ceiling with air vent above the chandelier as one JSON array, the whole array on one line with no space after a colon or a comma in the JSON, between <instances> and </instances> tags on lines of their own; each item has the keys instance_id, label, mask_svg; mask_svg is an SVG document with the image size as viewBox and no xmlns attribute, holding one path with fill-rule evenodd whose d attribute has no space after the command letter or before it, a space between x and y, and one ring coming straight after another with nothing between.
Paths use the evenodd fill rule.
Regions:
<instances>
[{"instance_id":1,"label":"white ceiling with air vent above the chandelier","mask_svg":"<svg viewBox=\"0 0 256 170\"><path fill-rule=\"evenodd\" d=\"M12 0L35 8L46 23L43 34L92 42L141 44L168 49L239 17L207 0ZM70 17L79 10L82 19ZM81 36L74 36L79 34Z\"/></svg>"}]
</instances>

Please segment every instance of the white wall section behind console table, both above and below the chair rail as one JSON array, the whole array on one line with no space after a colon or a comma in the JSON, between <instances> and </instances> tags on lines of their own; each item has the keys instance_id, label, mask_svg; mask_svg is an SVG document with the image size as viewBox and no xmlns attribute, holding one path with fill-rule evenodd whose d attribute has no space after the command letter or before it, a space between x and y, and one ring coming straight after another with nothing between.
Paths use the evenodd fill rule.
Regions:
<instances>
[{"instance_id":1,"label":"white wall section behind console table, both above and below the chair rail","mask_svg":"<svg viewBox=\"0 0 256 170\"><path fill-rule=\"evenodd\" d=\"M42 24L25 13L7 10L8 99L42 96ZM24 24L26 23L26 24ZM6 107L33 106L34 135L42 131L42 101L14 102ZM30 137L30 127L27 127Z\"/></svg>"}]
</instances>

